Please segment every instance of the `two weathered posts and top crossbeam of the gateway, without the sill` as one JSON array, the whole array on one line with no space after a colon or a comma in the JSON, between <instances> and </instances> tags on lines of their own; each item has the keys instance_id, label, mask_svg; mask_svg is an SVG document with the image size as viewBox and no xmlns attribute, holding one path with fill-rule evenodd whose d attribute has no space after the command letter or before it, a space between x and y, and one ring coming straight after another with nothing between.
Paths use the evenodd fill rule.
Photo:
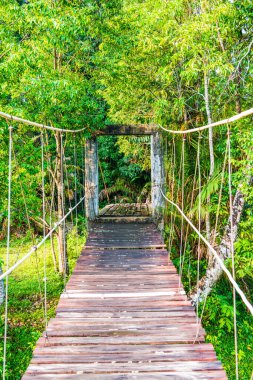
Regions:
<instances>
[{"instance_id":1,"label":"two weathered posts and top crossbeam of the gateway, without the sill","mask_svg":"<svg viewBox=\"0 0 253 380\"><path fill-rule=\"evenodd\" d=\"M165 190L163 136L154 125L107 126L100 135L150 135L151 136L151 202L153 216L161 219L164 198L160 188ZM89 220L98 216L98 141L97 137L86 139L85 143L85 208Z\"/></svg>"}]
</instances>

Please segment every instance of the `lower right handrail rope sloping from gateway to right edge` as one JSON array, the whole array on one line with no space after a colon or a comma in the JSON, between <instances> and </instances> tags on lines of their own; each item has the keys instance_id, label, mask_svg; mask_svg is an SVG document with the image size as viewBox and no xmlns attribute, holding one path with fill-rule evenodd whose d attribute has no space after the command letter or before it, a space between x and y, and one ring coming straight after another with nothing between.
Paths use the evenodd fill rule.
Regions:
<instances>
[{"instance_id":1,"label":"lower right handrail rope sloping from gateway to right edge","mask_svg":"<svg viewBox=\"0 0 253 380\"><path fill-rule=\"evenodd\" d=\"M250 313L253 316L253 306L251 303L248 301L247 297L243 293L243 291L240 289L236 281L233 279L232 274L229 272L229 270L226 268L223 260L220 258L219 254L215 251L215 249L211 246L211 244L208 242L208 240L199 232L198 228L191 222L191 220L184 214L184 212L181 210L181 208L174 202L172 202L166 195L163 193L162 189L160 188L161 194L166 199L171 205L173 205L178 212L184 217L184 219L189 223L189 225L192 227L192 229L197 233L198 236L200 236L201 240L205 243L205 245L210 249L210 251L213 253L215 256L216 260L218 261L220 267L222 270L226 273L229 281L231 282L232 286L235 288L239 296L241 297L243 303L247 307L247 309L250 311ZM1 280L1 277L0 277Z\"/></svg>"}]
</instances>

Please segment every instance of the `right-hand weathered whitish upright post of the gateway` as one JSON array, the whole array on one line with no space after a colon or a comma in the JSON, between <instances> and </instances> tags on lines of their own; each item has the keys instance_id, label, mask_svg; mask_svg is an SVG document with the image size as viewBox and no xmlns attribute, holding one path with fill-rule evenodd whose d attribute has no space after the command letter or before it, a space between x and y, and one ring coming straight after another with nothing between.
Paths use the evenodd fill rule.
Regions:
<instances>
[{"instance_id":1,"label":"right-hand weathered whitish upright post of the gateway","mask_svg":"<svg viewBox=\"0 0 253 380\"><path fill-rule=\"evenodd\" d=\"M163 136L161 133L151 135L151 199L153 216L162 217L165 205L160 188L165 190L165 172L163 157Z\"/></svg>"}]
</instances>

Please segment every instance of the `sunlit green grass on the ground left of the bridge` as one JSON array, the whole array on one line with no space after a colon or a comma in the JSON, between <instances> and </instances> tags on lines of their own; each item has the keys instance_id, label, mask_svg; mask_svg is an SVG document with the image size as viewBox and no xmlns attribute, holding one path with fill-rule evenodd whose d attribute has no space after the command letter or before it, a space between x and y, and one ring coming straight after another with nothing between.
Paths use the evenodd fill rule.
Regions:
<instances>
[{"instance_id":1,"label":"sunlit green grass on the ground left of the bridge","mask_svg":"<svg viewBox=\"0 0 253 380\"><path fill-rule=\"evenodd\" d=\"M40 238L38 238L38 241ZM74 228L67 239L70 272L80 255L81 247L85 243L85 235L78 236ZM11 242L10 265L24 256L33 244L28 238L15 239ZM57 244L55 244L56 246ZM50 242L27 259L9 277L8 302L8 340L7 340L7 370L8 380L21 379L32 357L32 352L38 338L44 331L45 318L43 307L43 271L44 249L47 268L47 307L48 319L55 315L55 309L64 281L54 270ZM6 246L0 245L0 259L5 260ZM4 269L4 268L3 268ZM0 336L4 333L4 307L0 308ZM3 357L3 339L0 342L0 360ZM2 376L2 363L0 365Z\"/></svg>"}]
</instances>

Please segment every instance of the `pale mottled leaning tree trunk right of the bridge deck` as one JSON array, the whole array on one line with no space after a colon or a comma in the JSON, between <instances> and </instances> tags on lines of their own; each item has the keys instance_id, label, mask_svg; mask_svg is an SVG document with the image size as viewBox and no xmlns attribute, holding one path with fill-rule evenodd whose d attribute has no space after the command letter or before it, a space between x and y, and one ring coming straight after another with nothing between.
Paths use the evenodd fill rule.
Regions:
<instances>
[{"instance_id":1,"label":"pale mottled leaning tree trunk right of the bridge deck","mask_svg":"<svg viewBox=\"0 0 253 380\"><path fill-rule=\"evenodd\" d=\"M240 190L237 190L232 210L232 221L233 221L233 231L231 231L231 219L229 218L223 238L219 246L214 247L222 260L226 260L231 257L231 238L234 242L237 237L238 226L240 223L241 215L244 206L244 196ZM203 301L206 296L211 292L213 286L217 283L222 275L222 268L219 263L212 256L209 260L208 268L206 274L199 281L198 286L193 289L190 294L190 299L193 305L197 305Z\"/></svg>"}]
</instances>

